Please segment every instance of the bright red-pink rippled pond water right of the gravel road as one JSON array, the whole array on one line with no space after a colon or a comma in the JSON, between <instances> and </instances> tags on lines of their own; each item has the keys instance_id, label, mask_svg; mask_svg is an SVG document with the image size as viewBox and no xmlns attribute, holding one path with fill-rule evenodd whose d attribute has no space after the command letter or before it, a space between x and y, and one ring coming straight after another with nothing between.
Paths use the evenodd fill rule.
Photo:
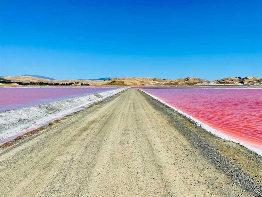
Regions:
<instances>
[{"instance_id":1,"label":"bright red-pink rippled pond water right of the gravel road","mask_svg":"<svg viewBox=\"0 0 262 197\"><path fill-rule=\"evenodd\" d=\"M261 88L143 89L234 139L262 149Z\"/></svg>"}]
</instances>

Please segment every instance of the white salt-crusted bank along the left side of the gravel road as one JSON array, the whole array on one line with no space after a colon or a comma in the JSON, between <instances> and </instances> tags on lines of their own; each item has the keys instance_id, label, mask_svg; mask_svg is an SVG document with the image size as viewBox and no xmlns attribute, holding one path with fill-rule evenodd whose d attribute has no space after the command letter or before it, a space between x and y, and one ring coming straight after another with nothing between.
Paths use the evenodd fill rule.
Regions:
<instances>
[{"instance_id":1,"label":"white salt-crusted bank along the left side of the gravel road","mask_svg":"<svg viewBox=\"0 0 262 197\"><path fill-rule=\"evenodd\" d=\"M0 145L23 133L39 128L55 119L76 112L125 89L119 88L43 105L0 112Z\"/></svg>"}]
</instances>

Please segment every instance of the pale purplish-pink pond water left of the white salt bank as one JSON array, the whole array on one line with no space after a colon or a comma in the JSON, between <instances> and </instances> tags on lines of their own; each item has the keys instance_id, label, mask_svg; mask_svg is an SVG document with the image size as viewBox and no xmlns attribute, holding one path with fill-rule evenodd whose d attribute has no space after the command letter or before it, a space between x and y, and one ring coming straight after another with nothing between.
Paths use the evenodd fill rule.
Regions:
<instances>
[{"instance_id":1,"label":"pale purplish-pink pond water left of the white salt bank","mask_svg":"<svg viewBox=\"0 0 262 197\"><path fill-rule=\"evenodd\" d=\"M118 87L1 87L0 111L105 92Z\"/></svg>"}]
</instances>

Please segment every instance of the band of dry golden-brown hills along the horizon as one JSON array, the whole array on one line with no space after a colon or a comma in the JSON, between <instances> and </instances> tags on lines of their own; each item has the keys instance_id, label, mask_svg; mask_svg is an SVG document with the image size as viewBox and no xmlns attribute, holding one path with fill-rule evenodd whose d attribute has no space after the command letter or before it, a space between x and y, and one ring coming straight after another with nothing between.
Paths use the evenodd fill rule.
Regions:
<instances>
[{"instance_id":1,"label":"band of dry golden-brown hills along the horizon","mask_svg":"<svg viewBox=\"0 0 262 197\"><path fill-rule=\"evenodd\" d=\"M34 75L36 76L36 75ZM42 76L41 76L42 77ZM4 78L4 79L3 79ZM161 78L150 78L150 77L120 77L120 78L99 78L99 79L87 79L87 80L49 80L46 78L37 78L29 76L4 76L0 78L0 83L10 80L13 82L24 82L24 83L72 83L72 85L89 84L91 86L105 86L105 85L116 85L116 86L154 86L154 85L262 85L262 78L258 77L227 77L223 79L217 79L208 81L201 78L187 77L178 78L174 80L161 79ZM2 81L2 82L1 82Z\"/></svg>"}]
</instances>

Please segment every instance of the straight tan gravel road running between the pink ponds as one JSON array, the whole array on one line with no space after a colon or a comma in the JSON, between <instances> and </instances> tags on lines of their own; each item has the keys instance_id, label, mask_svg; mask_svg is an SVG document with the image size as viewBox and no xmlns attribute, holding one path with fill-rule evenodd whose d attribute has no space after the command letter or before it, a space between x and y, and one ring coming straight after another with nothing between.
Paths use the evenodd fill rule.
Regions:
<instances>
[{"instance_id":1,"label":"straight tan gravel road running between the pink ponds","mask_svg":"<svg viewBox=\"0 0 262 197\"><path fill-rule=\"evenodd\" d=\"M128 89L0 152L0 196L259 196L192 125Z\"/></svg>"}]
</instances>

